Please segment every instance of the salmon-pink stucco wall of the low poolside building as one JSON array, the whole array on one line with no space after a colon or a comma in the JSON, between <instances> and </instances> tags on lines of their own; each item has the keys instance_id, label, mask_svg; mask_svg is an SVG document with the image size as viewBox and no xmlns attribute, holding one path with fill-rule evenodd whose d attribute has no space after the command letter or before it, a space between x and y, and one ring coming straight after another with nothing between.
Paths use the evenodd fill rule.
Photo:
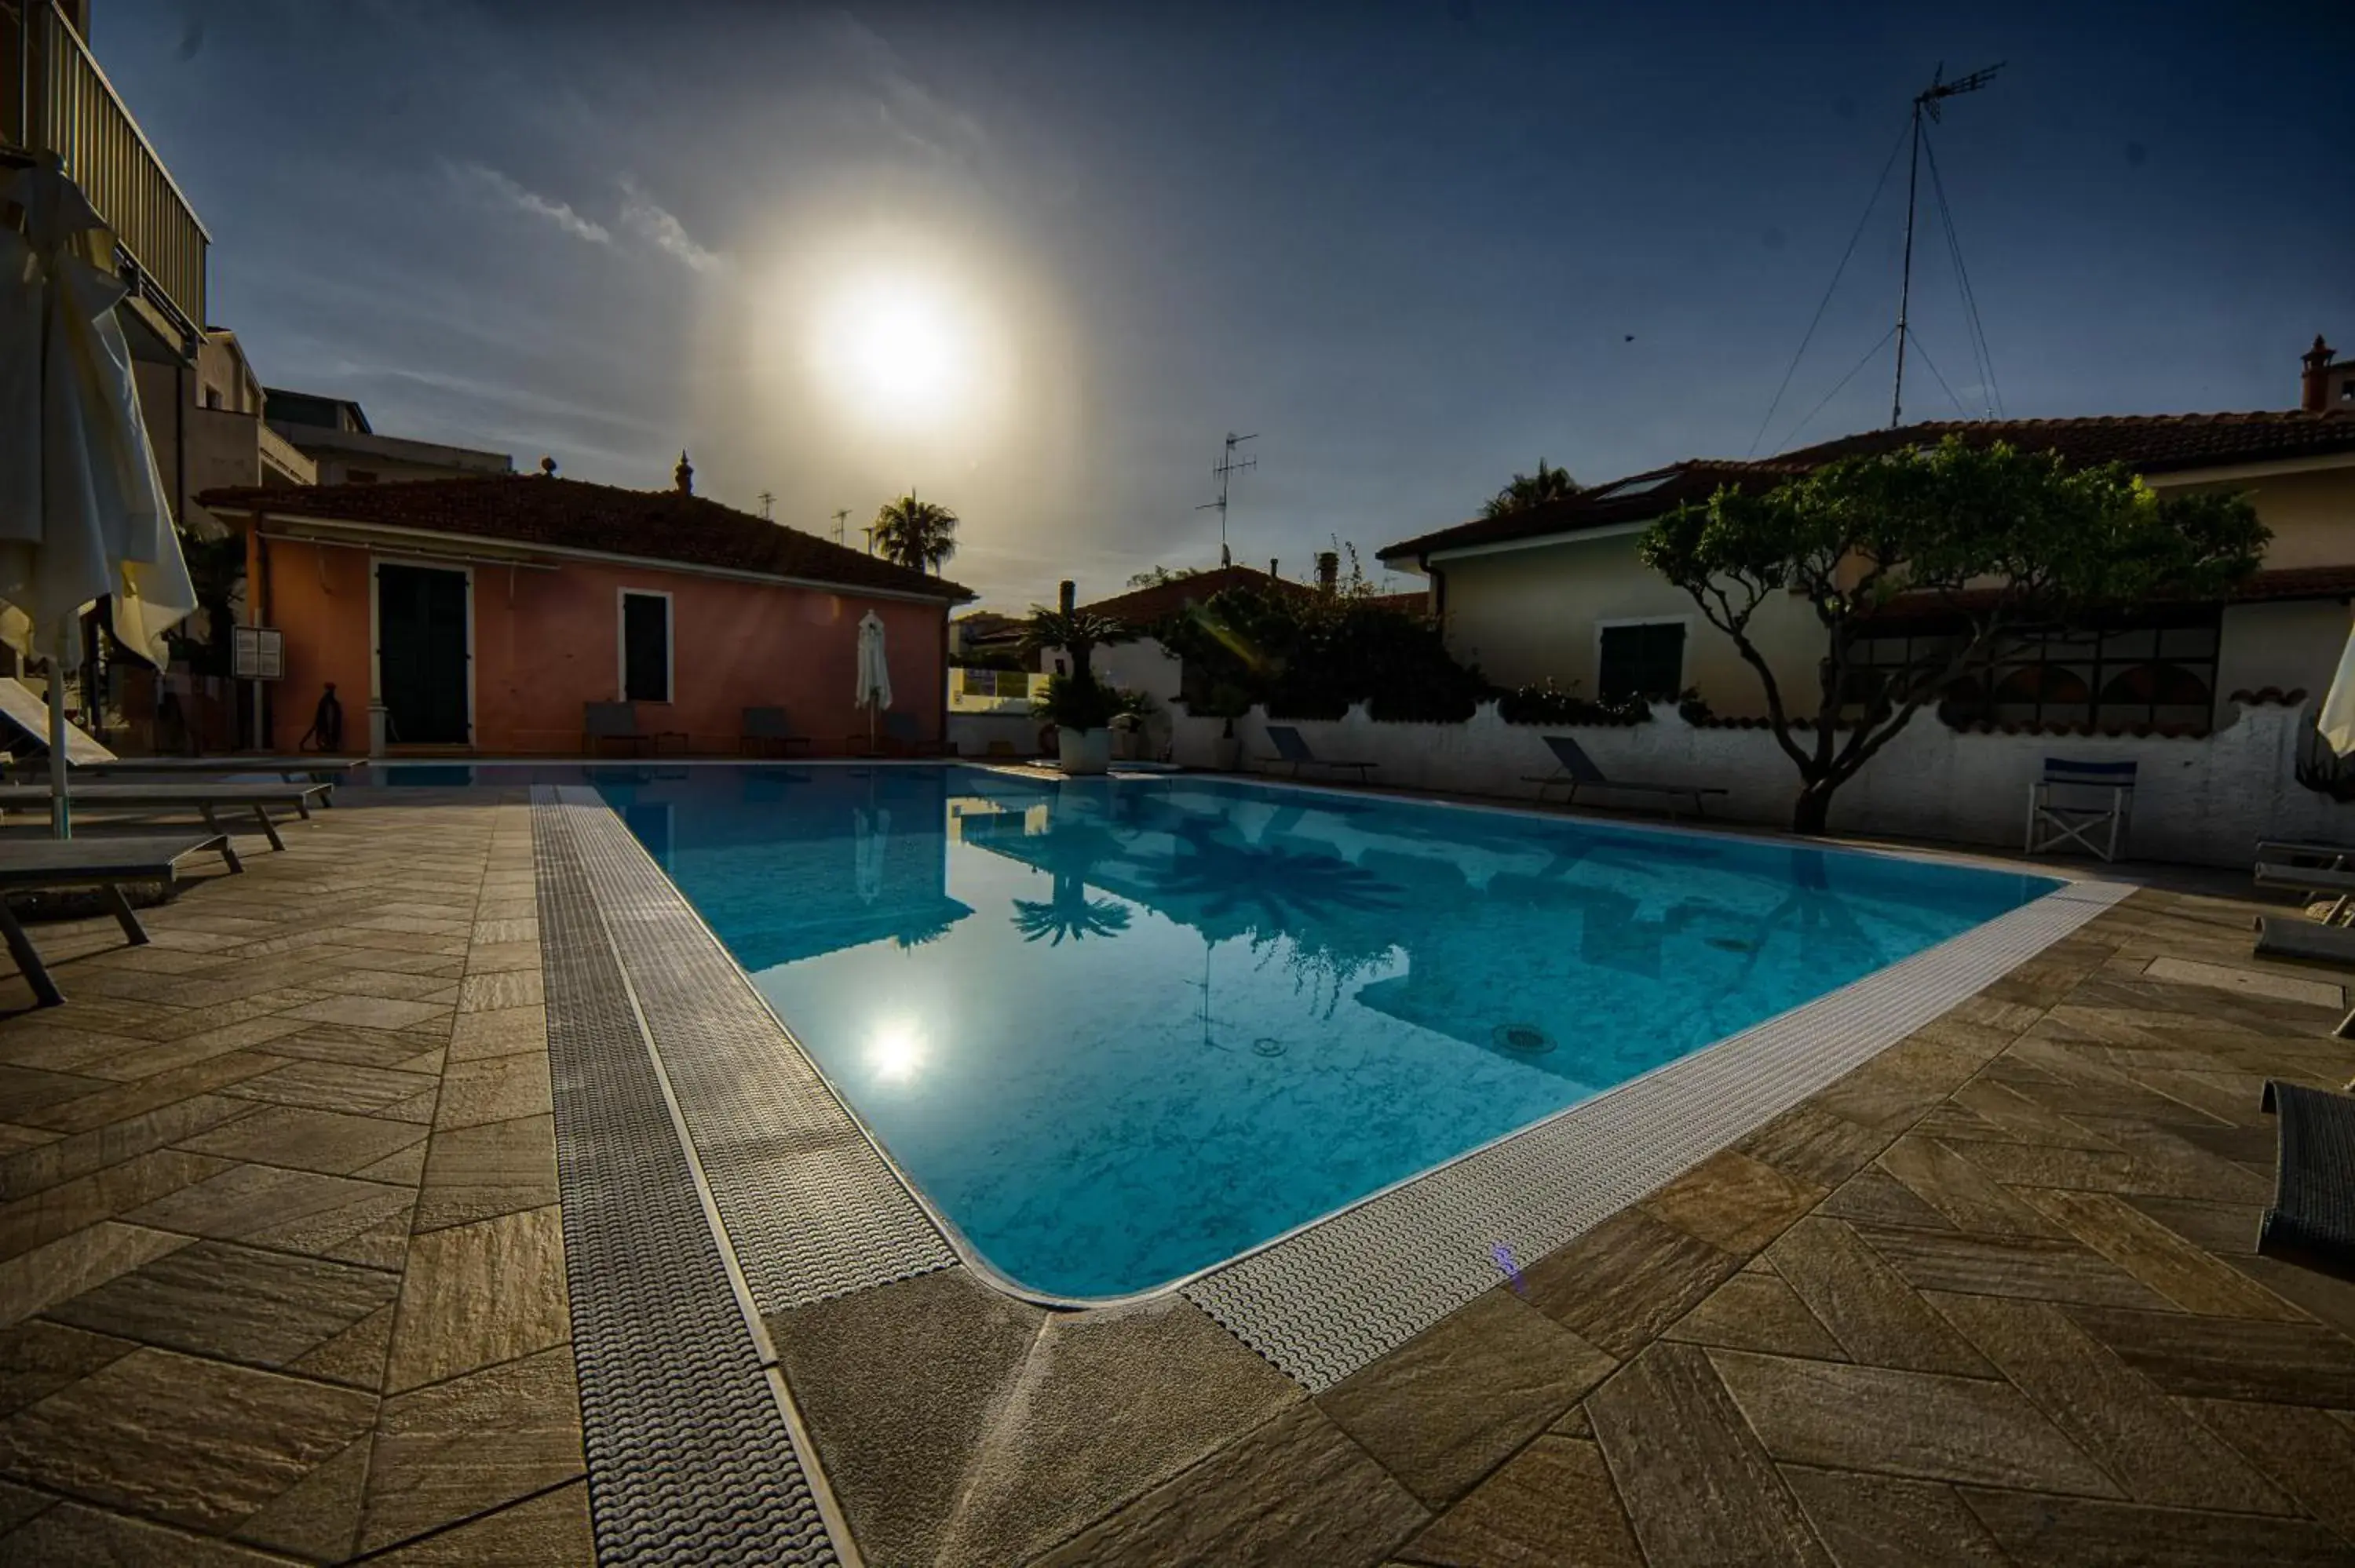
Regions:
<instances>
[{"instance_id":1,"label":"salmon-pink stucco wall of the low poolside building","mask_svg":"<svg viewBox=\"0 0 2355 1568\"><path fill-rule=\"evenodd\" d=\"M367 744L372 563L443 565L431 556L266 542L264 624L285 633L287 676L273 692L273 746L292 746L327 680L344 704L346 746ZM259 565L259 563L254 563ZM457 563L447 563L457 565ZM784 706L817 751L864 735L853 706L857 624L883 617L893 713L942 737L947 617L940 605L697 577L662 567L563 563L556 570L480 565L473 574L473 746L499 753L577 753L582 704L622 695L619 593L671 596L671 695L638 704L648 730L683 730L692 751L735 753L742 709Z\"/></svg>"}]
</instances>

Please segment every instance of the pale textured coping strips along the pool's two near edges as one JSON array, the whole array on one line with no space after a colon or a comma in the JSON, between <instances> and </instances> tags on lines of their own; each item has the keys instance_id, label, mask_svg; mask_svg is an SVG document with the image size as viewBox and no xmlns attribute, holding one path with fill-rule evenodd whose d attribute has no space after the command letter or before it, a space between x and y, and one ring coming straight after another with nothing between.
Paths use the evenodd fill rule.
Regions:
<instances>
[{"instance_id":1,"label":"pale textured coping strips along the pool's two near edges","mask_svg":"<svg viewBox=\"0 0 2355 1568\"><path fill-rule=\"evenodd\" d=\"M714 1227L756 1314L956 1262L1024 1300L1088 1307L1022 1290L954 1234L593 789L535 786L532 796L535 817L558 815L579 845L584 883L709 1182ZM1185 1295L1302 1389L1324 1391L1495 1285L1500 1245L1521 1264L1545 1257L2129 892L2122 883L2063 883L1886 970L1123 1302ZM761 1358L775 1361L765 1347Z\"/></svg>"}]
</instances>

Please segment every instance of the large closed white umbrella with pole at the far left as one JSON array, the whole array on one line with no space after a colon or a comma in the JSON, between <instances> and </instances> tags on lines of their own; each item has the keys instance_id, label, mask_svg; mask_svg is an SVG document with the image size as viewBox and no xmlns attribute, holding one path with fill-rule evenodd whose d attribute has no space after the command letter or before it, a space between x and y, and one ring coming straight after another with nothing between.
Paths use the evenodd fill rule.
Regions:
<instances>
[{"instance_id":1,"label":"large closed white umbrella with pole at the far left","mask_svg":"<svg viewBox=\"0 0 2355 1568\"><path fill-rule=\"evenodd\" d=\"M82 607L113 596L115 640L162 666L195 610L172 506L139 414L113 235L57 155L0 184L0 600L19 652L49 659L49 822L71 833L66 671Z\"/></svg>"}]
</instances>

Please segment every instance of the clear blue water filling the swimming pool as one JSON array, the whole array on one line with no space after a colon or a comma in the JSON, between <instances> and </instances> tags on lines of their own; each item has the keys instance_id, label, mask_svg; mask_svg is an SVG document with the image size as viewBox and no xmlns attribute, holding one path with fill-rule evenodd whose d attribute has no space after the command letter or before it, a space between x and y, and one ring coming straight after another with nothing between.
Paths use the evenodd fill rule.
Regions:
<instances>
[{"instance_id":1,"label":"clear blue water filling the swimming pool","mask_svg":"<svg viewBox=\"0 0 2355 1568\"><path fill-rule=\"evenodd\" d=\"M1064 1297L1222 1262L2056 885L1194 777L593 777L966 1241Z\"/></svg>"}]
</instances>

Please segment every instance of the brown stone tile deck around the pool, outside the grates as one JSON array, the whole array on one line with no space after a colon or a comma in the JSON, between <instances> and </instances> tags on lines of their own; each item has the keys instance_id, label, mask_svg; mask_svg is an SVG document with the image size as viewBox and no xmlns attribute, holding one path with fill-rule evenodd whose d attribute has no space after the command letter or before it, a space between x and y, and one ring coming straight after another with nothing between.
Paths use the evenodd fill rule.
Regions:
<instances>
[{"instance_id":1,"label":"brown stone tile deck around the pool, outside the grates","mask_svg":"<svg viewBox=\"0 0 2355 1568\"><path fill-rule=\"evenodd\" d=\"M386 796L0 979L0 1563L593 1559L532 808ZM963 1267L765 1328L878 1568L2348 1563L2355 1283L2254 1236L2355 1045L2251 909L2138 890L1314 1396Z\"/></svg>"}]
</instances>

